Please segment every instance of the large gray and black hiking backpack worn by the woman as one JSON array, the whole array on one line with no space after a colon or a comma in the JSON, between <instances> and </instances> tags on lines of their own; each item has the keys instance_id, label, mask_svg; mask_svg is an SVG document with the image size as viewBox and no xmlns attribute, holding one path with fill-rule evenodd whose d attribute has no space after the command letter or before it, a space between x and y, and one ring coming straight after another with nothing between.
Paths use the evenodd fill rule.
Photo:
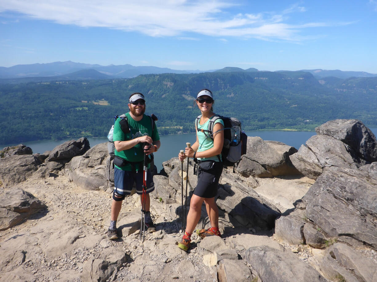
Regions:
<instances>
[{"instance_id":1,"label":"large gray and black hiking backpack worn by the woman","mask_svg":"<svg viewBox=\"0 0 377 282\"><path fill-rule=\"evenodd\" d=\"M195 120L197 129L201 117L202 115L199 115ZM210 137L213 140L213 134L217 132L213 132L213 126L219 118L224 122L224 128L220 129L224 130L224 145L221 151L222 163L227 167L234 167L234 164L241 160L242 155L246 154L247 135L241 129L241 121L234 117L214 115L208 123L208 129L198 129L198 131L203 132L207 138ZM221 161L220 156L218 158Z\"/></svg>"}]
</instances>

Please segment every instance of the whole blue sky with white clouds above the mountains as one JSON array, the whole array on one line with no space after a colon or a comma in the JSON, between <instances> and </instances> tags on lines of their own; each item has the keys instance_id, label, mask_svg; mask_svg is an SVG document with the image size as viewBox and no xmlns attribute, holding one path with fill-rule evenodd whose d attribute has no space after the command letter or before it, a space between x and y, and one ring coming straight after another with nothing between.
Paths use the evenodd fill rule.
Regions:
<instances>
[{"instance_id":1,"label":"whole blue sky with white clouds above the mountains","mask_svg":"<svg viewBox=\"0 0 377 282\"><path fill-rule=\"evenodd\" d=\"M377 0L3 0L0 66L377 73L376 30Z\"/></svg>"}]
</instances>

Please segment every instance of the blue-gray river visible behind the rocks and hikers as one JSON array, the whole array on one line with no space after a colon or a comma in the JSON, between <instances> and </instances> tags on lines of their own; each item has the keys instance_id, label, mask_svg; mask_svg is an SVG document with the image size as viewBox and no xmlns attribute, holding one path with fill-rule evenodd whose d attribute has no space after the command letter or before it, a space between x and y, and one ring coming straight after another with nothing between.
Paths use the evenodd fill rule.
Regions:
<instances>
[{"instance_id":1,"label":"blue-gray river visible behind the rocks and hikers","mask_svg":"<svg viewBox=\"0 0 377 282\"><path fill-rule=\"evenodd\" d=\"M374 135L377 135L377 127L369 127ZM313 135L316 135L314 131L280 131L280 130L255 130L246 131L247 136L259 136L263 140L273 140L285 143L289 146L295 147L297 150L302 144ZM77 138L78 139L78 138ZM107 142L107 138L88 138L90 147L97 144ZM41 140L41 141L30 141L24 142L28 147L31 147L33 153L43 153L48 150L54 149L56 146L64 143L70 139L64 139L59 141L52 140ZM179 150L184 150L186 147L186 142L193 144L195 142L195 133L192 134L181 134L181 135L161 135L161 148L155 153L155 165L157 171L162 169L162 162L167 161L175 156L178 156ZM5 144L1 145L0 148L6 146L13 146L17 144Z\"/></svg>"}]
</instances>

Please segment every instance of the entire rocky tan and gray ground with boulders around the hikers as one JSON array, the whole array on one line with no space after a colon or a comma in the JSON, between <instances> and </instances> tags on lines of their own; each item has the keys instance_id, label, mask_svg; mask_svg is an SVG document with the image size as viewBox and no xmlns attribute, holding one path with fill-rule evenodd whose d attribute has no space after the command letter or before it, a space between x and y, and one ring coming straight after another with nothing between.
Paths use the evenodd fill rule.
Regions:
<instances>
[{"instance_id":1,"label":"entire rocky tan and gray ground with boulders around the hikers","mask_svg":"<svg viewBox=\"0 0 377 282\"><path fill-rule=\"evenodd\" d=\"M80 138L40 155L4 148L0 281L376 281L376 138L357 120L316 132L298 151L249 137L236 173L226 169L220 180L222 238L194 236L189 253L176 242L182 167L187 203L196 185L191 160L186 171L186 162L170 159L154 176L157 232L139 240L134 194L118 219L122 237L110 241L106 144L89 149ZM208 223L203 207L197 228Z\"/></svg>"}]
</instances>

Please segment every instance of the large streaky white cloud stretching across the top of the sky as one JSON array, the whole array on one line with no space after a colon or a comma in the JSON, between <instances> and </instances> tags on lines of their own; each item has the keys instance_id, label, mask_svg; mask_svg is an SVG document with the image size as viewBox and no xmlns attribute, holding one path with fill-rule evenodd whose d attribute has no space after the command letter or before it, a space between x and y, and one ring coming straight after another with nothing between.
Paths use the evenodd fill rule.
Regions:
<instances>
[{"instance_id":1,"label":"large streaky white cloud stretching across the top of the sky","mask_svg":"<svg viewBox=\"0 0 377 282\"><path fill-rule=\"evenodd\" d=\"M286 23L288 14L305 12L293 5L279 13L238 13L231 15L236 5L231 0L7 0L0 2L0 12L15 11L39 20L81 27L107 27L141 32L149 36L199 35L263 40L300 41L300 30L330 26L327 23L293 25ZM375 2L370 0L371 2Z\"/></svg>"}]
</instances>

